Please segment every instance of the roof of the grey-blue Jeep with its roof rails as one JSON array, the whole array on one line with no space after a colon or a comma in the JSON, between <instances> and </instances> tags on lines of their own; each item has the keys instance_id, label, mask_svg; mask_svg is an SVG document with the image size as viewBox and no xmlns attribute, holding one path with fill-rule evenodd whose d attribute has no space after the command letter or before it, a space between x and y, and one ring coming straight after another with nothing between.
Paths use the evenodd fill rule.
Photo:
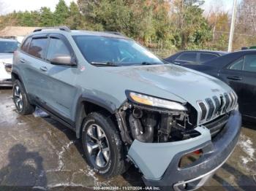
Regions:
<instances>
[{"instance_id":1,"label":"roof of the grey-blue Jeep with its roof rails","mask_svg":"<svg viewBox=\"0 0 256 191\"><path fill-rule=\"evenodd\" d=\"M31 35L37 35L37 34L49 34L49 33L57 33L57 34L65 34L65 35L71 35L71 36L105 36L105 37L112 37L112 38L118 38L118 39L129 39L127 36L124 36L122 34L119 34L118 32L113 31L78 31L78 30L72 30L72 31L62 31L59 29L45 29L42 31L35 31L31 33Z\"/></svg>"}]
</instances>

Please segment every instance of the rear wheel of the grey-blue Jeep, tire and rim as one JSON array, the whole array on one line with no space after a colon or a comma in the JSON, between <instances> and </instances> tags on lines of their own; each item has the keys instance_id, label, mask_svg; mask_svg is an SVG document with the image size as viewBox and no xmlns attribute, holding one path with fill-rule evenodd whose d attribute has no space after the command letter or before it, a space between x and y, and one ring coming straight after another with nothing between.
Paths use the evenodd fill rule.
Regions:
<instances>
[{"instance_id":1,"label":"rear wheel of the grey-blue Jeep, tire and rim","mask_svg":"<svg viewBox=\"0 0 256 191\"><path fill-rule=\"evenodd\" d=\"M32 114L35 107L29 103L28 95L18 79L15 80L12 87L13 101L19 114Z\"/></svg>"}]
</instances>

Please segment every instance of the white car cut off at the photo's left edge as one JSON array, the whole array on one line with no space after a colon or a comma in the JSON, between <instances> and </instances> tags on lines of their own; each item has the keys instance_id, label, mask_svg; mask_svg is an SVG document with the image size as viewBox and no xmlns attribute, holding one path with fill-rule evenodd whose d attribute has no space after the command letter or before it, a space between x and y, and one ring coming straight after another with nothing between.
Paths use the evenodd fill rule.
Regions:
<instances>
[{"instance_id":1,"label":"white car cut off at the photo's left edge","mask_svg":"<svg viewBox=\"0 0 256 191\"><path fill-rule=\"evenodd\" d=\"M18 44L14 39L0 39L0 86L12 86L12 58Z\"/></svg>"}]
</instances>

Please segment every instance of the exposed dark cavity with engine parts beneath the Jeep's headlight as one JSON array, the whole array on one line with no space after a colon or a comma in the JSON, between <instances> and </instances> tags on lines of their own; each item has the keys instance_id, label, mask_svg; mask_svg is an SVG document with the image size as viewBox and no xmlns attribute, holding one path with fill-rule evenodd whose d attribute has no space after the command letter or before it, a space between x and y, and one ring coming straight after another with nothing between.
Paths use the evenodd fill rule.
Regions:
<instances>
[{"instance_id":1,"label":"exposed dark cavity with engine parts beneath the Jeep's headlight","mask_svg":"<svg viewBox=\"0 0 256 191\"><path fill-rule=\"evenodd\" d=\"M191 110L170 111L127 102L117 114L124 128L121 130L122 139L128 144L135 139L146 143L162 143L199 136L200 133L194 130L196 121L193 118L197 119L196 112ZM188 113L194 114L194 117L189 117Z\"/></svg>"}]
</instances>

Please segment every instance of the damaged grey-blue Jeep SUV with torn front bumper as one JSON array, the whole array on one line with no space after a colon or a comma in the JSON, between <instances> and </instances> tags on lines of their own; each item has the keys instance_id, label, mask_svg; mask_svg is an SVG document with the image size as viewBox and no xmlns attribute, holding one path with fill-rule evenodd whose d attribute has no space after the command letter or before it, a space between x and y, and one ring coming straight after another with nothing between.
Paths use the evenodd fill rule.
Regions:
<instances>
[{"instance_id":1,"label":"damaged grey-blue Jeep SUV with torn front bumper","mask_svg":"<svg viewBox=\"0 0 256 191\"><path fill-rule=\"evenodd\" d=\"M132 163L146 185L163 189L200 187L241 129L228 85L164 64L120 34L38 29L15 53L12 82L18 113L38 106L74 130L98 174L122 174Z\"/></svg>"}]
</instances>

